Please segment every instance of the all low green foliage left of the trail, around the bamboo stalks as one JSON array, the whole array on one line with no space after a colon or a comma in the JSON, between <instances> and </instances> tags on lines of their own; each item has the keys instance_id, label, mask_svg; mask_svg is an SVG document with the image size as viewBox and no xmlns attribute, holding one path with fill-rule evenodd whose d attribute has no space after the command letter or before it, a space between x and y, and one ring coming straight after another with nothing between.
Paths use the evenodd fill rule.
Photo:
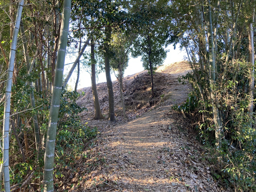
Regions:
<instances>
[{"instance_id":1,"label":"all low green foliage left of the trail, around the bamboo stalks","mask_svg":"<svg viewBox=\"0 0 256 192\"><path fill-rule=\"evenodd\" d=\"M30 77L29 77L30 78ZM27 78L17 79L18 86L26 82ZM24 85L24 84L23 84ZM20 87L18 87L20 89ZM29 89L29 88L28 88ZM35 92L36 98L41 93ZM84 107L80 107L76 104L74 100L77 100L78 97L83 95L84 93L78 93L74 91L62 90L61 92L61 100L60 100L60 113L59 113L59 121L56 135L56 147L55 154L57 157L55 158L55 175L56 177L62 177L61 168L65 166L70 166L75 159L76 156L83 153L85 149L85 143L88 142L91 138L95 137L98 134L97 127L91 128L86 124L81 122L81 117L79 113L83 110L86 110ZM51 99L51 97L49 98ZM23 94L17 93L17 97L15 98L14 106L16 110L20 110L22 108L22 104L28 103L29 105L29 92L23 92ZM37 106L41 106L41 110L28 110L25 112L27 116L32 116L34 113L40 114L44 116L44 121L39 122L40 124L40 132L42 134L46 134L47 123L48 123L48 100L37 99ZM24 107L24 106L23 106ZM1 108L1 113L3 113L3 108ZM24 127L21 127L24 128ZM26 128L28 134L33 132L32 129ZM2 133L0 133L2 135ZM24 142L22 138L20 141ZM41 168L44 166L43 158L39 158L38 162L36 162L37 156L36 150L34 149L32 154L32 158L28 159L26 163L20 163L21 155L19 154L19 148L16 144L16 139L12 135L11 143L10 143L10 153L15 156L15 164L11 166L12 171L10 171L10 182L11 185L19 184L24 182L24 179L30 174L32 171L34 172L34 176L31 178L32 181L38 182L38 180L42 179L43 172L41 172ZM19 155L15 155L15 154ZM44 156L44 150L41 150L39 153L39 157ZM0 157L2 156L2 152L0 153ZM14 157L13 157L14 158ZM37 166L36 169L33 167Z\"/></svg>"}]
</instances>

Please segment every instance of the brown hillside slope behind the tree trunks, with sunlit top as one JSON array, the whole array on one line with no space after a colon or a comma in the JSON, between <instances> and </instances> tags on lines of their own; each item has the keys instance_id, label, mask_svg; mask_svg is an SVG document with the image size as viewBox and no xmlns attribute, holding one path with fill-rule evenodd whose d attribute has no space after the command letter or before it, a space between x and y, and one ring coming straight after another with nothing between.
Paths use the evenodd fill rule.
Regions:
<instances>
[{"instance_id":1,"label":"brown hillside slope behind the tree trunks, with sunlit top","mask_svg":"<svg viewBox=\"0 0 256 192\"><path fill-rule=\"evenodd\" d=\"M134 75L124 77L124 104L126 107L127 117L129 119L134 119L154 108L156 104L161 101L161 95L164 95L162 101L165 100L165 102L170 104L184 101L189 92L189 85L182 85L178 83L177 77L179 75L186 74L189 70L189 65L185 61L159 67L153 76L154 91L156 95L154 99L151 98L151 80L148 71L141 71ZM79 91L83 91L85 95L77 100L77 103L88 109L88 111L83 112L82 116L84 119L91 119L94 115L92 88L86 87ZM119 82L117 80L113 81L113 91L115 100L115 116L117 120L122 120L122 105L119 92ZM107 83L97 84L97 92L99 95L101 111L105 116L107 116Z\"/></svg>"}]
</instances>

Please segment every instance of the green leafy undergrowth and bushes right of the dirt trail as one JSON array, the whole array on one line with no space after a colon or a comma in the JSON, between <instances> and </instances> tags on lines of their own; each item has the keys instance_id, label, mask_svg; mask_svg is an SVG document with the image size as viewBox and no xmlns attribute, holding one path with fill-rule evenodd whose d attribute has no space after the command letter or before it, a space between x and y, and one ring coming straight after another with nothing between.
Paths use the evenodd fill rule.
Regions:
<instances>
[{"instance_id":1,"label":"green leafy undergrowth and bushes right of the dirt trail","mask_svg":"<svg viewBox=\"0 0 256 192\"><path fill-rule=\"evenodd\" d=\"M201 76L200 81L196 81L193 73L181 76L179 81L189 82L193 89L185 103L173 108L182 110L190 117L197 139L208 148L209 151L204 155L212 164L213 178L236 191L256 191L256 118L255 113L250 118L247 110L250 98L246 82L250 66L246 62L237 63L239 70L233 73L230 71L226 79L217 79L218 88L214 101L207 93L210 86L202 73L197 74ZM204 88L204 95L199 86ZM215 124L212 117L212 103L216 100L223 128L221 148L216 148L215 145Z\"/></svg>"}]
</instances>

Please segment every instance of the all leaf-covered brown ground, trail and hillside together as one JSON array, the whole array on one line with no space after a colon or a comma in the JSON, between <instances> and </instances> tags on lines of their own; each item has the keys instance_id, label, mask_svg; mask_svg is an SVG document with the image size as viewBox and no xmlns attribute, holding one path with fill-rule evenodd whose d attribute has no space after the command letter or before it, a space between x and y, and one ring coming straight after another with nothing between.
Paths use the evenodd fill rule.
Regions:
<instances>
[{"instance_id":1,"label":"all leaf-covered brown ground, trail and hillside together","mask_svg":"<svg viewBox=\"0 0 256 192\"><path fill-rule=\"evenodd\" d=\"M133 76L125 77L129 119L123 120L120 115L115 123L89 121L88 125L97 126L100 134L77 157L73 164L76 172L67 168L63 173L70 177L59 181L60 186L68 191L95 192L231 191L219 186L212 178L210 171L213 168L203 158L204 150L191 132L189 121L171 109L173 104L180 104L187 98L190 86L178 83L177 77L188 71L185 62L158 68L154 75L158 97L154 100L150 100L146 71L133 75L136 81ZM118 103L117 83L113 84ZM107 114L105 86L101 83L97 88L100 104ZM92 95L89 88L82 90L86 94L78 103L88 108L88 112L83 113L84 121L87 121L93 115ZM165 98L160 97L162 94ZM148 101L152 103L150 107ZM140 108L136 108L138 103ZM118 114L121 109L117 106Z\"/></svg>"}]
</instances>

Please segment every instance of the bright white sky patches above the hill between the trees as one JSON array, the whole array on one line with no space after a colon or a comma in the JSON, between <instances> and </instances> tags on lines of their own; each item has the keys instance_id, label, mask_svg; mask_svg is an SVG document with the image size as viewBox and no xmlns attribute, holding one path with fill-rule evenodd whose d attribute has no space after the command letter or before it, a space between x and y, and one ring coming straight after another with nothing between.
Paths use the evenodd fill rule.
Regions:
<instances>
[{"instance_id":1,"label":"bright white sky patches above the hill between the trees","mask_svg":"<svg viewBox=\"0 0 256 192\"><path fill-rule=\"evenodd\" d=\"M167 57L164 60L164 65L184 60L184 58L187 57L186 51L185 50L180 51L180 48L178 46L176 46L176 49L174 50L173 46L169 45L167 47L167 49L169 49L170 51L167 53ZM71 59L66 57L65 63L74 62L75 59L76 58L74 58L74 57L71 58ZM140 57L138 57L138 58L130 57L128 67L124 71L124 76L133 75L135 73L138 73L138 72L144 70L144 68L142 66L142 62L140 61L140 59L141 59ZM64 74L68 73L69 68L71 67L71 65L72 64L70 64L68 66L65 66ZM76 71L77 71L77 68L73 72L70 80L68 81L68 85L70 85L73 89L74 89L75 83L76 83L76 76L77 76ZM98 77L99 77L99 80L97 81L97 83L106 82L105 72L100 73ZM114 73L111 75L111 79L112 79L112 81L116 80L116 77L115 77ZM80 77L79 77L79 84L77 86L77 89L81 89L81 88L84 88L84 87L90 87L91 85L92 85L91 75L85 69L80 68Z\"/></svg>"}]
</instances>

